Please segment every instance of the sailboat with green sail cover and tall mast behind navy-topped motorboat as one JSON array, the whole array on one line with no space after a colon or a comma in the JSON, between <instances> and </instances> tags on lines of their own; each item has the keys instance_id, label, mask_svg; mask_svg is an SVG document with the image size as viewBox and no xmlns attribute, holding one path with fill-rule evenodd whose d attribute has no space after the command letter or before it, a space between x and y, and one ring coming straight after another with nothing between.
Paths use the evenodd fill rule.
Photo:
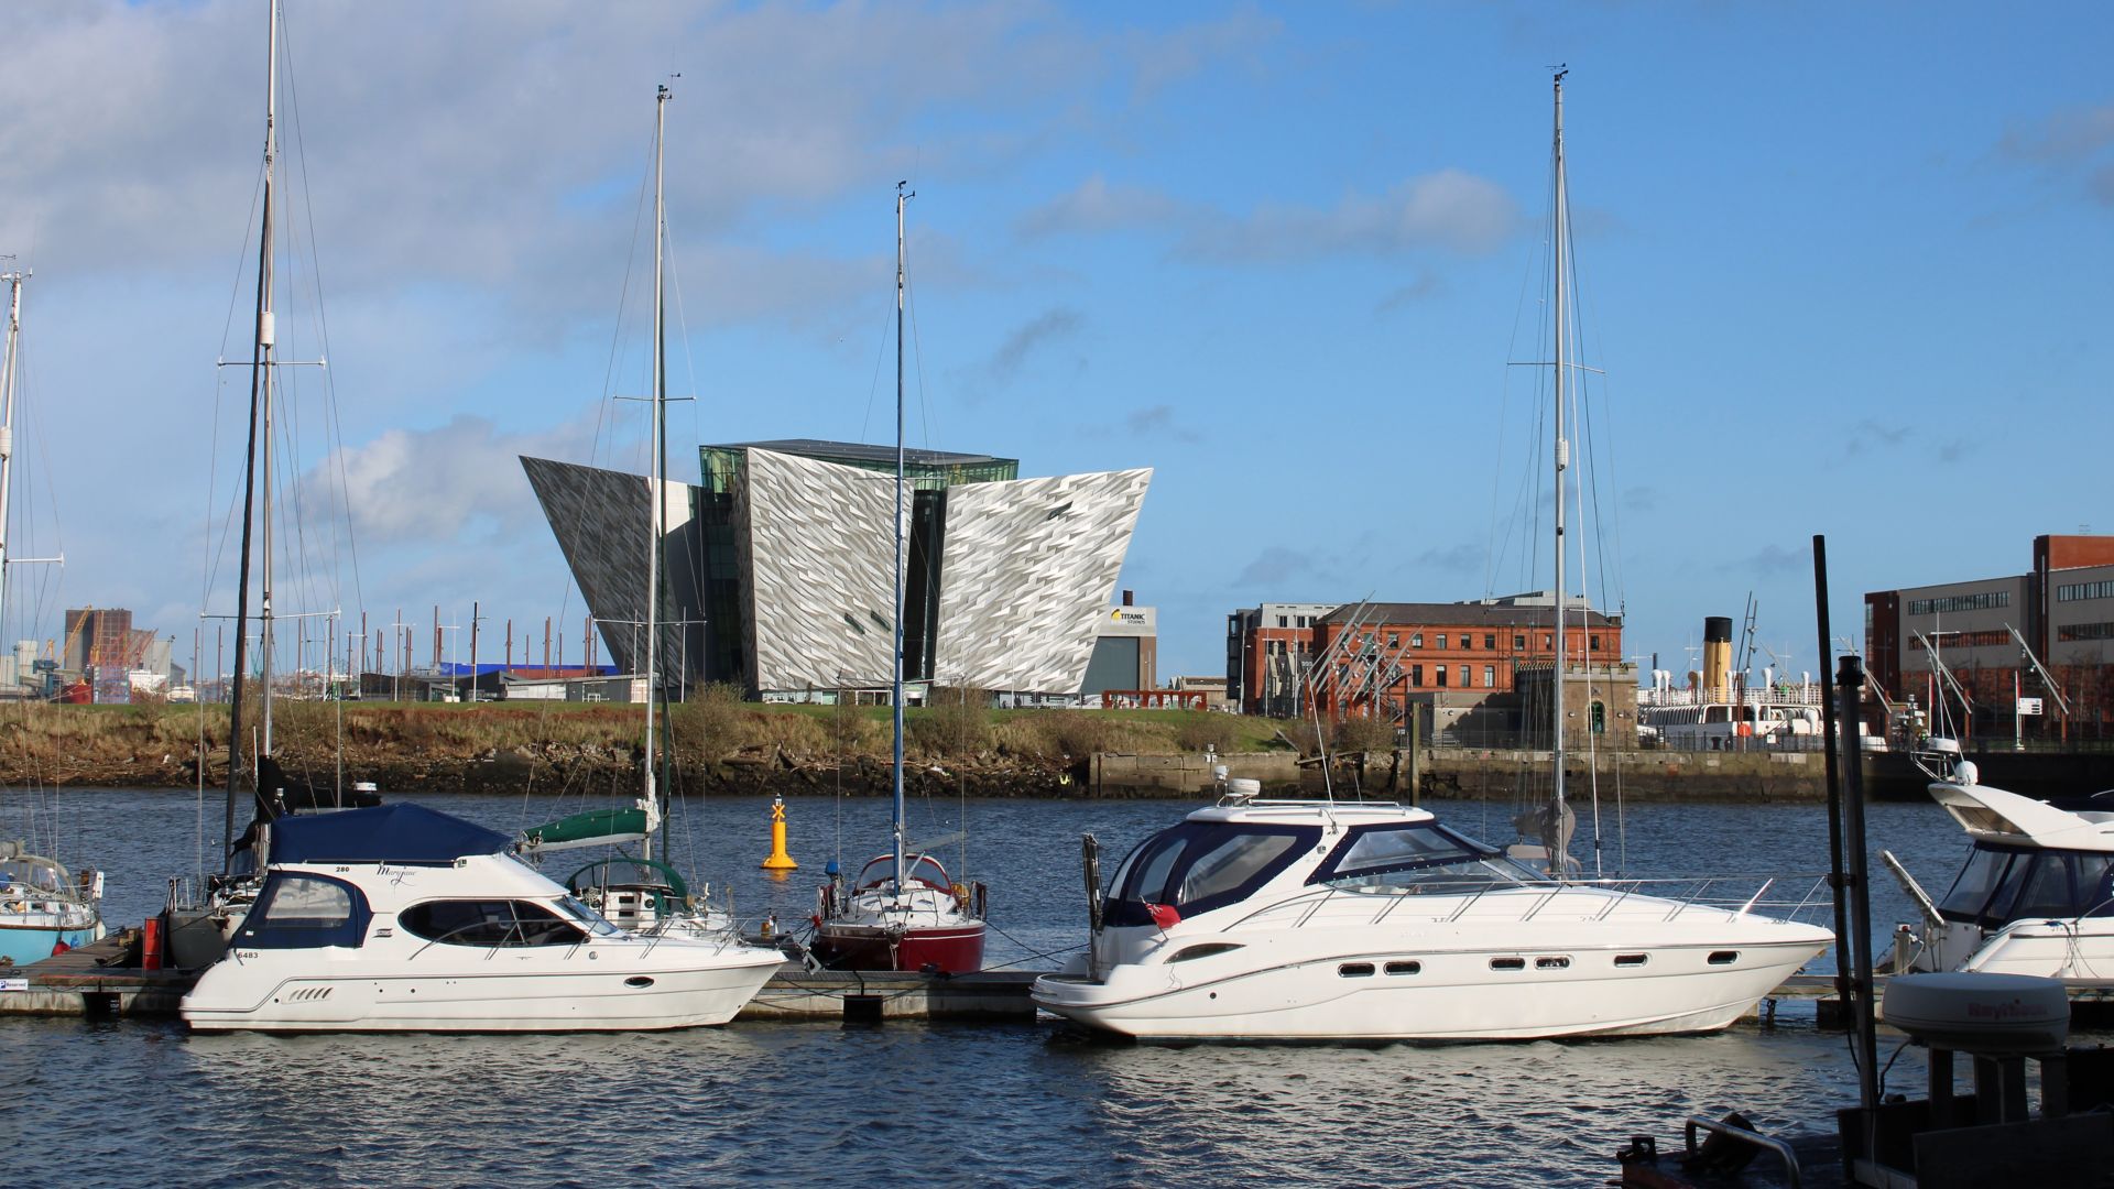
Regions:
<instances>
[{"instance_id":1,"label":"sailboat with green sail cover and tall mast behind navy-topped motorboat","mask_svg":"<svg viewBox=\"0 0 2114 1189\"><path fill-rule=\"evenodd\" d=\"M596 859L567 878L564 886L613 925L645 933L723 935L734 920L706 903L704 889L691 889L666 859L653 857L655 836L664 836L664 793L655 766L664 760L657 711L662 707L662 559L666 552L668 514L668 336L664 317L666 271L666 197L664 163L668 131L666 85L653 102L653 474L647 480L647 607L645 607L645 760L641 764L638 800L630 806L583 810L533 827L522 836L522 853L545 855L588 846L638 844L636 855L613 853Z\"/></svg>"}]
</instances>

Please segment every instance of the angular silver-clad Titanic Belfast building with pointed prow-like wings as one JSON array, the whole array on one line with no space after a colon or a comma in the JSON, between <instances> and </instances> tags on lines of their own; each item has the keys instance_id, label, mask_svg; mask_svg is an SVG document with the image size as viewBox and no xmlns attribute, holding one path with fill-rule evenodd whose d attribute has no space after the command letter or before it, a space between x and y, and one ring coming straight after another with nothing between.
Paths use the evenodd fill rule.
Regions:
<instances>
[{"instance_id":1,"label":"angular silver-clad Titanic Belfast building with pointed prow-like wings","mask_svg":"<svg viewBox=\"0 0 2114 1189\"><path fill-rule=\"evenodd\" d=\"M664 484L660 671L755 696L890 681L894 446L704 446ZM645 669L651 482L522 457L609 658ZM1072 696L1150 468L1019 478L1017 459L905 451L907 681Z\"/></svg>"}]
</instances>

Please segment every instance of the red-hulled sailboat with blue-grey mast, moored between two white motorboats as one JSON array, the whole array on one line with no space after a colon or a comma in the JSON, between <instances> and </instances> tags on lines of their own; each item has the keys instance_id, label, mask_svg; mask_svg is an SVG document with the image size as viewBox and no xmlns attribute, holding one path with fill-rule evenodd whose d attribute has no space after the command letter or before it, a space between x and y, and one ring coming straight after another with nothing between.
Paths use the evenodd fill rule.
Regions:
<instances>
[{"instance_id":1,"label":"red-hulled sailboat with blue-grey mast, moored between two white motorboats","mask_svg":"<svg viewBox=\"0 0 2114 1189\"><path fill-rule=\"evenodd\" d=\"M829 882L816 906L812 952L824 967L854 971L970 973L983 969L981 895L947 878L939 857L913 850L903 806L903 207L913 197L896 182L896 569L892 791L894 848L877 855L850 886ZM926 848L930 850L930 848Z\"/></svg>"}]
</instances>

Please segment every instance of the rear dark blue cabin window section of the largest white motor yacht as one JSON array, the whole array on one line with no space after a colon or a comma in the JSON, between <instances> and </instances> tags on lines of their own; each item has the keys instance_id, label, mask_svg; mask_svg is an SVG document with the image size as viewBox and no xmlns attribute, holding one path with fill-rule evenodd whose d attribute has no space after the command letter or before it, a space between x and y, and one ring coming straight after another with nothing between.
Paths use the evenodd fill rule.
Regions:
<instances>
[{"instance_id":1,"label":"rear dark blue cabin window section of the largest white motor yacht","mask_svg":"<svg viewBox=\"0 0 2114 1189\"><path fill-rule=\"evenodd\" d=\"M1152 925L1152 906L1197 916L1247 899L1321 840L1319 825L1184 821L1116 867L1101 920Z\"/></svg>"}]
</instances>

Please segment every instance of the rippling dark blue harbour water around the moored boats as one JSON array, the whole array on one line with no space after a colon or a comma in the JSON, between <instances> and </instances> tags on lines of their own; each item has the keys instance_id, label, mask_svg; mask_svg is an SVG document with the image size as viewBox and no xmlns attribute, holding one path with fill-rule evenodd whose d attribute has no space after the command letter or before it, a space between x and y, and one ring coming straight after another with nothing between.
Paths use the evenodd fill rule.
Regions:
<instances>
[{"instance_id":1,"label":"rippling dark blue harbour water around the moored boats","mask_svg":"<svg viewBox=\"0 0 2114 1189\"><path fill-rule=\"evenodd\" d=\"M501 829L577 808L429 804ZM1194 804L970 802L968 876L991 884L1002 929L991 961L1080 944L1082 831L1112 867ZM112 922L142 920L167 874L192 865L190 793L68 793L61 808L66 855L110 872ZM956 829L960 808L917 804L913 838ZM1509 840L1509 804L1431 808ZM767 800L679 808L676 857L731 876L742 916L799 922L837 815L856 867L886 846L888 806L799 798L786 812L803 863L786 880L757 872ZM216 802L205 819L218 823ZM1613 812L1602 823L1613 831ZM1795 899L1826 867L1820 806L1636 806L1624 834L1630 874L1778 874ZM1934 893L1966 853L1928 804L1873 806L1871 838ZM552 870L564 874L562 857ZM1911 908L1884 872L1873 891L1884 939ZM1856 1096L1843 1035L1818 1030L1803 1003L1710 1037L1444 1047L1120 1045L1030 1024L190 1037L173 1022L0 1020L0 1056L17 1102L36 1104L0 1113L6 1166L70 1185L1602 1185L1632 1132L1679 1145L1681 1117L1731 1109L1765 1130L1820 1130ZM1922 1079L1907 1049L1890 1085Z\"/></svg>"}]
</instances>

